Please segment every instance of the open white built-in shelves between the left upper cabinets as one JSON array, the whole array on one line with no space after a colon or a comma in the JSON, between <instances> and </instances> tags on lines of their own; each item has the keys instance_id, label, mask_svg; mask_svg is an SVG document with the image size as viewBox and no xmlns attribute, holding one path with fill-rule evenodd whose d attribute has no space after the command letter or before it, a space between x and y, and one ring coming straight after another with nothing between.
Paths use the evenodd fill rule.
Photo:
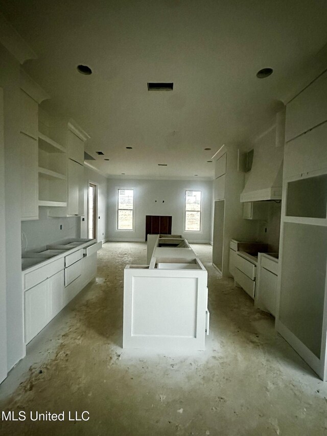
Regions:
<instances>
[{"instance_id":1,"label":"open white built-in shelves between the left upper cabinets","mask_svg":"<svg viewBox=\"0 0 327 436\"><path fill-rule=\"evenodd\" d=\"M67 205L67 154L61 144L38 133L39 206Z\"/></svg>"}]
</instances>

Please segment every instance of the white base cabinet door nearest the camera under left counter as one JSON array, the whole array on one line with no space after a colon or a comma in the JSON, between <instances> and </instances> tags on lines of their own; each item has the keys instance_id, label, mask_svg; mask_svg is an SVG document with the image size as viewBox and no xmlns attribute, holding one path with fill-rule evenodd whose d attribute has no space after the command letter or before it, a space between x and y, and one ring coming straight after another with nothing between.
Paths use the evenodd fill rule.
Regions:
<instances>
[{"instance_id":1,"label":"white base cabinet door nearest the camera under left counter","mask_svg":"<svg viewBox=\"0 0 327 436\"><path fill-rule=\"evenodd\" d=\"M25 292L25 342L30 342L49 321L49 281L44 280Z\"/></svg>"}]
</instances>

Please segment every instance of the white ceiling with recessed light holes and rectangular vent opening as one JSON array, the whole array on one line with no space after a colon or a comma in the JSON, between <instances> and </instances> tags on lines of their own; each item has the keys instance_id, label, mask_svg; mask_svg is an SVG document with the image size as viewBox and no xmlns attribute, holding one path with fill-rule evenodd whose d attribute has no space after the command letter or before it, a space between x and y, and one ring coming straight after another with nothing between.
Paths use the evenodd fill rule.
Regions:
<instances>
[{"instance_id":1,"label":"white ceiling with recessed light holes and rectangular vent opening","mask_svg":"<svg viewBox=\"0 0 327 436\"><path fill-rule=\"evenodd\" d=\"M83 127L91 164L109 176L212 178L207 160L268 127L321 71L327 42L325 0L0 0L0 10L38 55L25 70L51 96L42 107ZM256 78L263 67L273 75ZM151 81L174 90L150 92Z\"/></svg>"}]
</instances>

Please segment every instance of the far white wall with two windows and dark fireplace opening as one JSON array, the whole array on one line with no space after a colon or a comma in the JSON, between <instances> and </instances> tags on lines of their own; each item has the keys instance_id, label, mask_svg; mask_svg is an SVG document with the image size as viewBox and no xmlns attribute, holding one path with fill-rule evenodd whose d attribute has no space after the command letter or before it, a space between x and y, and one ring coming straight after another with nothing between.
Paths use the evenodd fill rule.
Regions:
<instances>
[{"instance_id":1,"label":"far white wall with two windows and dark fireplace opening","mask_svg":"<svg viewBox=\"0 0 327 436\"><path fill-rule=\"evenodd\" d=\"M118 188L134 189L135 230L116 230ZM202 230L183 232L185 191L202 191ZM212 241L213 182L197 180L108 180L108 238L110 241L145 241L146 215L172 216L172 233L189 242ZM164 202L163 202L164 201Z\"/></svg>"}]
</instances>

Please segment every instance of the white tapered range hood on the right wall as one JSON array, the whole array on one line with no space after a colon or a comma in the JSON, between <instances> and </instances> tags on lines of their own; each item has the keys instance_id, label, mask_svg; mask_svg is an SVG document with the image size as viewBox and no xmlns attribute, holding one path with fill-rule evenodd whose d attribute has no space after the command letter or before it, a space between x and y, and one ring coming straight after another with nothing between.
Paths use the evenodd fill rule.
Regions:
<instances>
[{"instance_id":1,"label":"white tapered range hood on the right wall","mask_svg":"<svg viewBox=\"0 0 327 436\"><path fill-rule=\"evenodd\" d=\"M278 146L276 130L274 126L265 133L254 148L241 202L282 199L284 146Z\"/></svg>"}]
</instances>

